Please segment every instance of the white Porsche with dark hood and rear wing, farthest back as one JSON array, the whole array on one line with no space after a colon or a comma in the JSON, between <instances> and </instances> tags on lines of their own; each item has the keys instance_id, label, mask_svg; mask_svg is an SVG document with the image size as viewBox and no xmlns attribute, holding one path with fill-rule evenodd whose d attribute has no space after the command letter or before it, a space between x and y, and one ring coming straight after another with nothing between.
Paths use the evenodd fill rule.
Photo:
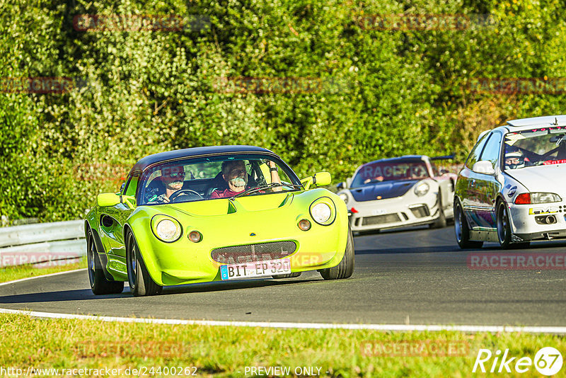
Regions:
<instances>
[{"instance_id":1,"label":"white Porsche with dark hood and rear wing, farthest back","mask_svg":"<svg viewBox=\"0 0 566 378\"><path fill-rule=\"evenodd\" d=\"M451 157L407 155L359 166L352 178L337 185L352 231L445 227L446 219L454 217L456 174L439 172L431 160Z\"/></svg>"}]
</instances>

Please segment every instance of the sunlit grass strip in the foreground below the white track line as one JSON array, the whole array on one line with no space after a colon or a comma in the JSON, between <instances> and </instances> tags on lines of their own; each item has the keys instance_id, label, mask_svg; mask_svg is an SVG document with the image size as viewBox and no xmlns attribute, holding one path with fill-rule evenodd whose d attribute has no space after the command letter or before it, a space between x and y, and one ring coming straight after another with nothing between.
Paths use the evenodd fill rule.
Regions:
<instances>
[{"instance_id":1,"label":"sunlit grass strip in the foreground below the white track line","mask_svg":"<svg viewBox=\"0 0 566 378\"><path fill-rule=\"evenodd\" d=\"M13 314L0 314L0 334L0 350L3 351L0 367L23 372L33 367L36 374L40 368L59 369L46 376L81 375L69 369L91 369L83 371L82 375L108 377L107 373L116 369L115 374L110 375L127 377L145 373L145 376L155 377L189 377L196 372L201 377L251 377L258 375L251 374L250 367L288 367L288 376L469 377L476 375L472 369L480 348L493 353L508 348L510 357L532 359L536 351L545 346L566 350L563 336L529 333L168 326L33 319ZM432 344L449 343L468 345L468 348L452 350L457 355L430 354L434 352ZM403 347L399 349L398 345L404 344L428 345L424 350L429 355L422 355L422 349L418 352L418 348L413 348L411 355L395 353L397 348L403 354ZM446 352L442 346L437 350ZM383 353L386 355L380 355ZM493 358L485 364L488 371L492 362ZM154 374L150 374L151 367ZM158 367L161 367L159 372ZM313 370L307 371L311 374L296 374L304 373L304 368ZM260 376L282 375L261 372ZM533 366L528 372L517 375L540 376Z\"/></svg>"}]
</instances>

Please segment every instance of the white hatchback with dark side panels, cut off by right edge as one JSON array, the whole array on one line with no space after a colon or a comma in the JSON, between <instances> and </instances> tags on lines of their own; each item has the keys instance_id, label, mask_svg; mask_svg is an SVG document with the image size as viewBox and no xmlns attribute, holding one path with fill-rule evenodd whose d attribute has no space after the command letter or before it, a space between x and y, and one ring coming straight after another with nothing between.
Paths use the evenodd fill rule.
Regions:
<instances>
[{"instance_id":1,"label":"white hatchback with dark side panels, cut off by right edge","mask_svg":"<svg viewBox=\"0 0 566 378\"><path fill-rule=\"evenodd\" d=\"M454 216L461 248L566 238L566 115L480 134L458 174Z\"/></svg>"}]
</instances>

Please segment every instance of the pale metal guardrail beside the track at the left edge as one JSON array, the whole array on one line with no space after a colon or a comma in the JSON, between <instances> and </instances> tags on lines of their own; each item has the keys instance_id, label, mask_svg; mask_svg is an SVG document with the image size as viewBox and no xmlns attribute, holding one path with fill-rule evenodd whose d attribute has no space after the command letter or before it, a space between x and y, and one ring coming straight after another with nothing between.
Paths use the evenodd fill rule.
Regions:
<instances>
[{"instance_id":1,"label":"pale metal guardrail beside the track at the left edge","mask_svg":"<svg viewBox=\"0 0 566 378\"><path fill-rule=\"evenodd\" d=\"M0 267L52 266L85 255L82 220L0 228Z\"/></svg>"}]
</instances>

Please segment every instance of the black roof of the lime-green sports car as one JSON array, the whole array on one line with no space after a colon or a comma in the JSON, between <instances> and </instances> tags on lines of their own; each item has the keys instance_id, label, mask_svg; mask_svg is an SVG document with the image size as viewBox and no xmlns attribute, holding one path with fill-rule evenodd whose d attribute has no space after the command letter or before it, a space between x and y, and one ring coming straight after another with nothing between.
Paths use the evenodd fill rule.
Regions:
<instances>
[{"instance_id":1,"label":"black roof of the lime-green sports car","mask_svg":"<svg viewBox=\"0 0 566 378\"><path fill-rule=\"evenodd\" d=\"M136 164L132 167L129 173L134 173L135 171L144 171L145 168L161 161L185 159L195 156L207 156L207 155L217 155L217 154L238 154L238 153L267 153L277 156L274 152L269 149L262 149L261 147L255 146L209 146L209 147L194 147L190 149L175 149L173 151L159 152L158 154L153 154L145 156L139 159ZM277 156L279 157L279 156Z\"/></svg>"}]
</instances>

